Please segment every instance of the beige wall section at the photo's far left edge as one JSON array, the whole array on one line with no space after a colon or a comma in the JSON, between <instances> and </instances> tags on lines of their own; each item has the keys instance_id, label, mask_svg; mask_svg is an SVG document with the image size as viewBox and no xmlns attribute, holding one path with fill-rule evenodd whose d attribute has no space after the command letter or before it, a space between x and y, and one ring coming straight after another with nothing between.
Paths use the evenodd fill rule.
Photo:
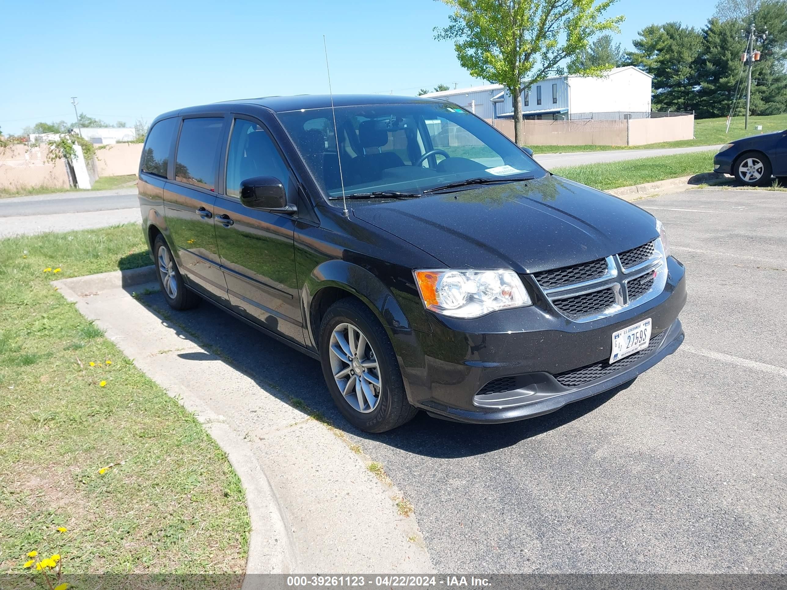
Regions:
<instances>
[{"instance_id":1,"label":"beige wall section at the photo's far left edge","mask_svg":"<svg viewBox=\"0 0 787 590\"><path fill-rule=\"evenodd\" d=\"M65 160L49 161L47 153L46 146L0 148L0 190L24 190L36 186L68 188Z\"/></svg>"}]
</instances>

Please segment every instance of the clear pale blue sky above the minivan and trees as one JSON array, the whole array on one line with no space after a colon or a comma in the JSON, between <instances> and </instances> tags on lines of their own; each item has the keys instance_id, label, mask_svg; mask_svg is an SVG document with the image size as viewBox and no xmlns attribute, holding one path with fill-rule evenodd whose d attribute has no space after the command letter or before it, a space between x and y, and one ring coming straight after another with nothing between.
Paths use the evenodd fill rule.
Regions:
<instances>
[{"instance_id":1,"label":"clear pale blue sky above the minivan and trees","mask_svg":"<svg viewBox=\"0 0 787 590\"><path fill-rule=\"evenodd\" d=\"M334 93L416 94L471 79L432 29L449 8L434 0L312 2L13 2L2 4L0 127L80 112L114 124L160 112L269 94L327 92L323 34ZM701 26L714 0L619 0L618 41L630 48L648 24ZM657 9L656 9L657 6Z\"/></svg>"}]
</instances>

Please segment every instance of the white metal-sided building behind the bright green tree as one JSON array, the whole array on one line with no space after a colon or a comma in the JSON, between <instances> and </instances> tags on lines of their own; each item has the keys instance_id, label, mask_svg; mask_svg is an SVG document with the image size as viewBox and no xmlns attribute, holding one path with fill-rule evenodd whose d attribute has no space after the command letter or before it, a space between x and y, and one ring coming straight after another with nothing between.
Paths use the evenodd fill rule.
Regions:
<instances>
[{"instance_id":1,"label":"white metal-sided building behind the bright green tree","mask_svg":"<svg viewBox=\"0 0 787 590\"><path fill-rule=\"evenodd\" d=\"M552 76L524 89L526 119L626 118L650 112L652 78L633 65L612 68L600 78ZM512 118L511 94L501 84L423 94L464 106L483 119Z\"/></svg>"}]
</instances>

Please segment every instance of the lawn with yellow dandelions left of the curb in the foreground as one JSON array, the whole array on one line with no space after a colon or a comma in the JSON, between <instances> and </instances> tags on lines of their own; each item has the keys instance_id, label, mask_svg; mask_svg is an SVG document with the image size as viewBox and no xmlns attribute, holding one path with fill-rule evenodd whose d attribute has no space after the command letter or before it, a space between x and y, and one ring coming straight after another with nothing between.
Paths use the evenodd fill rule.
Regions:
<instances>
[{"instance_id":1,"label":"lawn with yellow dandelions left of the curb in the foreground","mask_svg":"<svg viewBox=\"0 0 787 590\"><path fill-rule=\"evenodd\" d=\"M22 573L32 549L61 554L65 581L245 568L224 452L50 285L145 264L133 223L0 241L0 573Z\"/></svg>"}]
</instances>

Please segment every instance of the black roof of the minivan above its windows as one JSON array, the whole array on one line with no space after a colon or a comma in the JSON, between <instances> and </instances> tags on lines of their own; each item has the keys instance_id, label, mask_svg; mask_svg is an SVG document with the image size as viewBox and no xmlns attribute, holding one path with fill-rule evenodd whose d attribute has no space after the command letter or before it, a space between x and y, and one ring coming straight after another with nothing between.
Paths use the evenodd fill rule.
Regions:
<instances>
[{"instance_id":1,"label":"black roof of the minivan above its windows","mask_svg":"<svg viewBox=\"0 0 787 590\"><path fill-rule=\"evenodd\" d=\"M334 94L334 106L353 105L390 105L402 102L438 102L434 98L419 98L415 96L393 96L391 94ZM260 98L241 98L235 101L215 102L212 105L191 106L184 109L164 113L163 116L187 114L216 110L216 106L226 105L260 105L274 112L297 111L301 109L325 109L331 106L330 94L297 94L295 96L265 96ZM161 118L161 117L158 117Z\"/></svg>"}]
</instances>

